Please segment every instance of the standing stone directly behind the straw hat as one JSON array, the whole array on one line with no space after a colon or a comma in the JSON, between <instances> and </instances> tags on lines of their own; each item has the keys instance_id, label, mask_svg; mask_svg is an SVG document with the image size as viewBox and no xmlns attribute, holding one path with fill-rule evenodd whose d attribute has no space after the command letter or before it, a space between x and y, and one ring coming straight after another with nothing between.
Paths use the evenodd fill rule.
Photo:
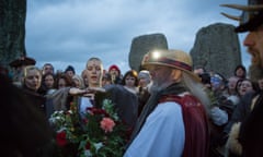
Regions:
<instances>
[{"instance_id":1,"label":"standing stone directly behind the straw hat","mask_svg":"<svg viewBox=\"0 0 263 157\"><path fill-rule=\"evenodd\" d=\"M137 72L144 56L155 49L168 49L167 37L163 34L150 34L135 37L129 51L129 67Z\"/></svg>"}]
</instances>

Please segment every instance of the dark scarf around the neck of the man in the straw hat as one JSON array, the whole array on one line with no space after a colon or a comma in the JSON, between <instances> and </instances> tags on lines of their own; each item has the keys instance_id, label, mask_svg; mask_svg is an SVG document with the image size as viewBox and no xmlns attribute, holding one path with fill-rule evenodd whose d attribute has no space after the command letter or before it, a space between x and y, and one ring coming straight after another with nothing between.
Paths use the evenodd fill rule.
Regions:
<instances>
[{"instance_id":1,"label":"dark scarf around the neck of the man in the straw hat","mask_svg":"<svg viewBox=\"0 0 263 157\"><path fill-rule=\"evenodd\" d=\"M185 87L183 83L174 83L168 86L164 89L153 92L148 99L146 106L144 107L141 114L139 116L134 132L130 136L130 141L127 145L127 147L133 143L137 134L140 132L140 129L142 128L147 117L155 110L157 105L159 104L159 99L164 95L179 95L184 92L187 92L188 89Z\"/></svg>"}]
</instances>

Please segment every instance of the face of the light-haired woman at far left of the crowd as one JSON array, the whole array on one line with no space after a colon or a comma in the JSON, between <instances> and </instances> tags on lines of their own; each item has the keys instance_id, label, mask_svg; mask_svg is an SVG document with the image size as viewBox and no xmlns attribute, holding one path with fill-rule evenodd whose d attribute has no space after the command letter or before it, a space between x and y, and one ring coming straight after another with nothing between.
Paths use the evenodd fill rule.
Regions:
<instances>
[{"instance_id":1,"label":"face of the light-haired woman at far left of the crowd","mask_svg":"<svg viewBox=\"0 0 263 157\"><path fill-rule=\"evenodd\" d=\"M32 90L37 90L41 87L41 72L33 69L27 71L24 83L27 88Z\"/></svg>"}]
</instances>

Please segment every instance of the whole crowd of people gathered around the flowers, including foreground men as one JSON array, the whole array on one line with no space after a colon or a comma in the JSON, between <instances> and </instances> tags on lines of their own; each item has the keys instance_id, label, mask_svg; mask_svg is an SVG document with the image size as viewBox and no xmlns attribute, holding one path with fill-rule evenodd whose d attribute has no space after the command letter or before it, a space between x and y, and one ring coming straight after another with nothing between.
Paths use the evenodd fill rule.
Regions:
<instances>
[{"instance_id":1,"label":"whole crowd of people gathered around the flowers, including foreground men","mask_svg":"<svg viewBox=\"0 0 263 157\"><path fill-rule=\"evenodd\" d=\"M237 65L229 77L194 68L187 52L173 49L149 51L140 71L125 73L116 64L105 70L95 57L81 74L73 65L59 73L52 63L37 68L27 57L10 63L12 75L1 68L2 153L53 156L50 114L69 110L78 97L81 118L87 108L101 107L95 97L103 93L127 125L125 157L262 156L262 2L225 7L249 13L236 32L249 32L243 45L252 56L249 70Z\"/></svg>"}]
</instances>

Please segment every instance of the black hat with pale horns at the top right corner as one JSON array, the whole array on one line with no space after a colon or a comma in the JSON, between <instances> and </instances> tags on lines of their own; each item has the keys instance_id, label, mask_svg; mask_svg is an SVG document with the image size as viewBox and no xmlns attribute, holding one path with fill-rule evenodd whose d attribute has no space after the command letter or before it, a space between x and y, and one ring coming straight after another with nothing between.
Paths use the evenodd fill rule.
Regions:
<instances>
[{"instance_id":1,"label":"black hat with pale horns at the top right corner","mask_svg":"<svg viewBox=\"0 0 263 157\"><path fill-rule=\"evenodd\" d=\"M263 24L263 0L249 0L248 5L221 4L221 7L242 11L240 16L221 13L229 19L240 22L239 26L235 29L238 33L254 31Z\"/></svg>"}]
</instances>

